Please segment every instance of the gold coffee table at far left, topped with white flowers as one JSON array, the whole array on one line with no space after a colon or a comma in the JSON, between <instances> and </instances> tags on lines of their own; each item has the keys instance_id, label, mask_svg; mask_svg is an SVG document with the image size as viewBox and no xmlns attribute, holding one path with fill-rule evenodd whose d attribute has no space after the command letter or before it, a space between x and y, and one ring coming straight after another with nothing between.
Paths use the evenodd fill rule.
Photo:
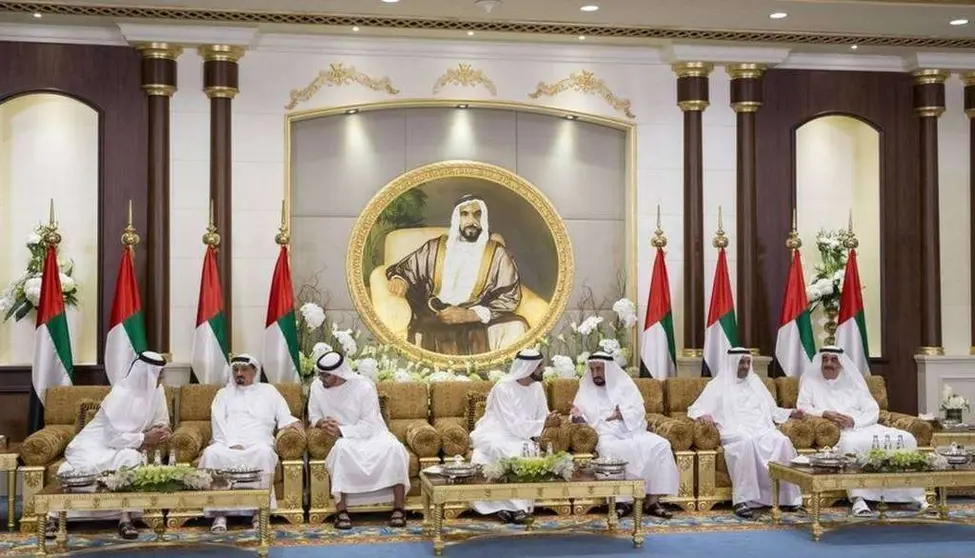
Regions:
<instances>
[{"instance_id":1,"label":"gold coffee table at far left, topped with white flowers","mask_svg":"<svg viewBox=\"0 0 975 558\"><path fill-rule=\"evenodd\" d=\"M47 554L44 542L44 524L48 512L58 514L57 545L63 550L68 539L67 515L69 511L125 511L131 509L143 510L143 516L155 516L152 527L158 539L165 533L166 523L162 521L162 510L185 508L216 508L232 509L246 508L258 510L260 543L257 547L258 556L267 556L270 546L271 490L267 488L235 488L233 490L195 490L177 492L111 492L98 486L94 491L62 490L57 484L44 487L34 496L34 512L37 517L37 551L38 556ZM145 542L136 543L145 545ZM152 544L152 543L149 543ZM122 548L125 545L119 545Z\"/></svg>"}]
</instances>

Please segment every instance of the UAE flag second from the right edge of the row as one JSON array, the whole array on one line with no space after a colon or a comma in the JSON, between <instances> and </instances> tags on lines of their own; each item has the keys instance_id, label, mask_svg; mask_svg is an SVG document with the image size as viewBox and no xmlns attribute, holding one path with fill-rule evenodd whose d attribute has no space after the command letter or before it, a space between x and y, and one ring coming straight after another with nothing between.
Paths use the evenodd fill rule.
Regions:
<instances>
[{"instance_id":1,"label":"UAE flag second from the right edge of the row","mask_svg":"<svg viewBox=\"0 0 975 558\"><path fill-rule=\"evenodd\" d=\"M786 376L798 377L812 363L815 354L816 342L802 274L802 257L799 250L793 250L782 313L779 314L779 334L775 338L775 360Z\"/></svg>"}]
</instances>

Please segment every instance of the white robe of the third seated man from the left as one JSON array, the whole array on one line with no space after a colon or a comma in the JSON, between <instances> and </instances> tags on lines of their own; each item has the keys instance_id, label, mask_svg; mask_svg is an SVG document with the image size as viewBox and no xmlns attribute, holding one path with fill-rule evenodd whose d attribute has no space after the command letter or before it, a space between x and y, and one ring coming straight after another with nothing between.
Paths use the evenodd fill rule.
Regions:
<instances>
[{"instance_id":1,"label":"white robe of the third seated man from the left","mask_svg":"<svg viewBox=\"0 0 975 558\"><path fill-rule=\"evenodd\" d=\"M325 458L332 496L345 494L348 506L392 502L394 486L410 490L409 453L386 427L376 387L350 372L344 371L346 381L336 387L326 389L315 380L308 397L309 422L333 418L342 433Z\"/></svg>"}]
</instances>

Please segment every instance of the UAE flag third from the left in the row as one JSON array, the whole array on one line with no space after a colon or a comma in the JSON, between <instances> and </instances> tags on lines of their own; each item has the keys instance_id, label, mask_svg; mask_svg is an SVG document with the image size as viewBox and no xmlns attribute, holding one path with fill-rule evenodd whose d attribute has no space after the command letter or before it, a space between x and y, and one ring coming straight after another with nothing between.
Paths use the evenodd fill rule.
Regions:
<instances>
[{"instance_id":1,"label":"UAE flag third from the left in the row","mask_svg":"<svg viewBox=\"0 0 975 558\"><path fill-rule=\"evenodd\" d=\"M196 332L193 334L193 376L201 384L225 384L230 352L227 344L227 322L223 313L223 294L217 257L213 246L203 256L200 278L200 302L196 309Z\"/></svg>"}]
</instances>

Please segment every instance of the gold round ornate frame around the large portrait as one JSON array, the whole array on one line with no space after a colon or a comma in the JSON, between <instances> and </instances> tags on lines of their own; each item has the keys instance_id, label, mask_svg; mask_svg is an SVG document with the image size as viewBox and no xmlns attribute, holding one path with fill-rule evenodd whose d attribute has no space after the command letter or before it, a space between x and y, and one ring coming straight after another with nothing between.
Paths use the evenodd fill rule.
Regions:
<instances>
[{"instance_id":1,"label":"gold round ornate frame around the large portrait","mask_svg":"<svg viewBox=\"0 0 975 558\"><path fill-rule=\"evenodd\" d=\"M445 355L428 351L405 339L396 338L386 324L379 319L379 315L372 305L372 299L363 279L363 256L369 231L386 206L401 194L421 184L441 178L479 178L502 188L507 188L535 208L552 235L558 261L558 276L552 300L549 301L549 311L537 326L529 329L518 342L510 347L478 355ZM475 368L494 366L510 359L521 349L535 345L543 335L551 331L565 311L572 289L574 269L572 242L569 239L565 223L552 202L534 184L521 176L505 168L478 161L432 163L407 171L386 184L366 204L366 208L356 220L355 226L352 228L352 237L349 240L349 252L346 256L345 265L349 294L352 296L355 309L366 327L372 331L379 342L395 347L399 352L419 363L450 369L465 369L470 364L473 364Z\"/></svg>"}]
</instances>

